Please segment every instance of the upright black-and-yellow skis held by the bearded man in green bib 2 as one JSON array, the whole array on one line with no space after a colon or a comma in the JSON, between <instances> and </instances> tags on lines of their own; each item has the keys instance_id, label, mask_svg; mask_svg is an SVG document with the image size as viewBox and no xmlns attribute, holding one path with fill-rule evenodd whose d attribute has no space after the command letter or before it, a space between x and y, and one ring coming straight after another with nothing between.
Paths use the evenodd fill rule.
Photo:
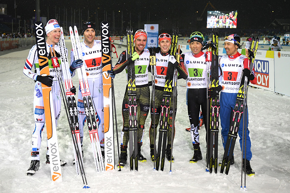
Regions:
<instances>
[{"instance_id":1,"label":"upright black-and-yellow skis held by the bearded man in green bib 2","mask_svg":"<svg viewBox=\"0 0 290 193\"><path fill-rule=\"evenodd\" d=\"M133 28L127 27L127 58L130 58L134 53ZM135 85L135 62L127 65L128 76L128 111L129 111L129 155L130 155L130 170L138 171L138 139L137 139L137 102L136 102L136 85Z\"/></svg>"}]
</instances>

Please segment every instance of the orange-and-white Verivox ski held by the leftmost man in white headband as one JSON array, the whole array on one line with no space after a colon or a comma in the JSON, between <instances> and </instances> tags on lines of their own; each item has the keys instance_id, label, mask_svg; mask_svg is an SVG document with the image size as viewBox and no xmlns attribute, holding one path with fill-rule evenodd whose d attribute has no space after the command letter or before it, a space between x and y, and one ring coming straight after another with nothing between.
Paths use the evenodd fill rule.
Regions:
<instances>
[{"instance_id":1,"label":"orange-and-white Verivox ski held by the leftmost man in white headband","mask_svg":"<svg viewBox=\"0 0 290 193\"><path fill-rule=\"evenodd\" d=\"M35 38L41 76L49 76L48 54L46 50L45 31L41 21L35 22ZM47 145L49 148L50 172L52 181L62 181L59 145L56 130L56 121L52 100L52 87L41 83L42 97L45 113Z\"/></svg>"}]
</instances>

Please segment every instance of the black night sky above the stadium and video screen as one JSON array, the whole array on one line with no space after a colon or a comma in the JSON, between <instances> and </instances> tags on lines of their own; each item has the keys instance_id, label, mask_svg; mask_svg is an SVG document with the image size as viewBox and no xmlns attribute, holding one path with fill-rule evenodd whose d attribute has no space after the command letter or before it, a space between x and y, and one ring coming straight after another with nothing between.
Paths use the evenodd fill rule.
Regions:
<instances>
[{"instance_id":1,"label":"black night sky above the stadium and video screen","mask_svg":"<svg viewBox=\"0 0 290 193\"><path fill-rule=\"evenodd\" d=\"M78 22L79 8L82 9L82 18L87 20L89 10L90 20L96 20L94 14L98 10L99 22L104 20L104 11L107 12L107 20L113 22L113 11L115 14L115 26L121 26L121 12L123 11L124 27L130 21L131 12L132 25L138 24L138 16L141 13L141 23L146 23L150 12L150 23L156 20L169 21L168 25L176 25L180 29L186 28L186 25L205 28L207 10L214 10L207 6L203 14L203 21L196 21L200 17L207 0L40 0L41 17L54 19L57 10L57 17L63 19L63 10L67 9L67 21L71 20L71 8L76 10L75 23ZM1 0L0 3L7 4L7 14L15 16L14 0ZM265 29L274 19L290 19L290 0L212 0L211 3L216 10L238 10L239 29ZM35 1L16 0L16 12L21 19L31 19L35 17ZM47 11L48 8L48 11ZM60 11L60 14L58 14ZM198 13L196 13L198 12ZM73 13L72 13L73 15ZM142 25L143 26L143 25Z\"/></svg>"}]
</instances>

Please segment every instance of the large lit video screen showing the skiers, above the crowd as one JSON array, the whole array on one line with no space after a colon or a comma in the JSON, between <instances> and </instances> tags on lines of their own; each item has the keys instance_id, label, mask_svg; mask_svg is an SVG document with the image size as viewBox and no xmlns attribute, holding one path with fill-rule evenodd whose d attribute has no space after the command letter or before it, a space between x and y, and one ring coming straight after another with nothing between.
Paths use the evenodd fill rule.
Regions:
<instances>
[{"instance_id":1,"label":"large lit video screen showing the skiers, above the crowd","mask_svg":"<svg viewBox=\"0 0 290 193\"><path fill-rule=\"evenodd\" d=\"M207 11L207 28L237 28L238 11Z\"/></svg>"}]
</instances>

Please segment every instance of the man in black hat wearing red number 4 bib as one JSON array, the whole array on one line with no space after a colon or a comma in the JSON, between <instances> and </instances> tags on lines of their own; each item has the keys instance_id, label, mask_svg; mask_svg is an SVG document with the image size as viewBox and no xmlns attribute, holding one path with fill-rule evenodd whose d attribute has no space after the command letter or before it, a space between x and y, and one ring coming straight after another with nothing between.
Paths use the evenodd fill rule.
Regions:
<instances>
[{"instance_id":1,"label":"man in black hat wearing red number 4 bib","mask_svg":"<svg viewBox=\"0 0 290 193\"><path fill-rule=\"evenodd\" d=\"M96 113L96 121L98 124L98 135L102 156L104 160L104 103L103 103L103 74L102 74L102 47L101 40L96 40L96 23L86 21L83 23L83 42L81 43L84 67L87 75L87 81L93 100L94 110ZM75 75L75 69L82 66L81 59L74 61L74 53L71 51L71 67L72 77ZM78 66L76 66L78 65ZM78 118L81 144L83 146L83 127L86 116L83 106L83 97L81 89L78 95ZM83 150L82 150L83 151Z\"/></svg>"}]
</instances>

